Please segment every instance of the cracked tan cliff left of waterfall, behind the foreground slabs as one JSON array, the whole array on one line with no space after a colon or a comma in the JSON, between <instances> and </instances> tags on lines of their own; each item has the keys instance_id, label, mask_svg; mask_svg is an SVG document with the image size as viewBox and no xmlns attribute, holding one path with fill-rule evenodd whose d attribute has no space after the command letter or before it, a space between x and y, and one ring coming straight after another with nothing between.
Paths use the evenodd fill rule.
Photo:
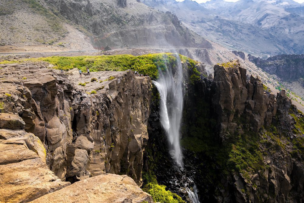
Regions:
<instances>
[{"instance_id":1,"label":"cracked tan cliff left of waterfall, behind the foreground slabs","mask_svg":"<svg viewBox=\"0 0 304 203\"><path fill-rule=\"evenodd\" d=\"M19 115L17 126L39 137L61 180L121 173L141 185L150 78L125 71L79 80L77 70L59 72L43 63L2 65L1 112ZM92 77L97 81L78 85ZM12 125L6 117L1 126Z\"/></svg>"}]
</instances>

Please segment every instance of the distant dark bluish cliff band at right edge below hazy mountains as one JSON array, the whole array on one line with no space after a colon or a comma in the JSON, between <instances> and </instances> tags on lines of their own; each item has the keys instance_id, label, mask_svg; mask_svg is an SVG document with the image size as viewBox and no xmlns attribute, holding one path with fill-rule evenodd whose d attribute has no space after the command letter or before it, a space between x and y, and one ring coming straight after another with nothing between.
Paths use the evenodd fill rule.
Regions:
<instances>
[{"instance_id":1,"label":"distant dark bluish cliff band at right edge below hazy mountains","mask_svg":"<svg viewBox=\"0 0 304 203\"><path fill-rule=\"evenodd\" d=\"M276 55L268 59L248 55L251 62L269 74L275 74L286 80L294 80L304 76L304 54Z\"/></svg>"}]
</instances>

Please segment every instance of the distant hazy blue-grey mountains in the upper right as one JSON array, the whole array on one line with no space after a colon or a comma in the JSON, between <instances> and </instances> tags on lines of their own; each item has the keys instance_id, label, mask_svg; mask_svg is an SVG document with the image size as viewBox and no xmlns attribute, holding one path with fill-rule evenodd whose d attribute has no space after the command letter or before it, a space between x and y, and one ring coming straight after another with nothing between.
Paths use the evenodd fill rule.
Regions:
<instances>
[{"instance_id":1,"label":"distant hazy blue-grey mountains in the upper right","mask_svg":"<svg viewBox=\"0 0 304 203\"><path fill-rule=\"evenodd\" d=\"M142 2L175 13L186 27L227 48L263 57L304 53L304 5L292 0Z\"/></svg>"}]
</instances>

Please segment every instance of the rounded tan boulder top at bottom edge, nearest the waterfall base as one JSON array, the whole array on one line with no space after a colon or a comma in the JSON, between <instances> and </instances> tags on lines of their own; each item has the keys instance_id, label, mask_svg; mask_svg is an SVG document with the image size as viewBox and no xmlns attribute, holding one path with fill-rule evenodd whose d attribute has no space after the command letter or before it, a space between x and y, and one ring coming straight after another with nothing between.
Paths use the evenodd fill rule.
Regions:
<instances>
[{"instance_id":1,"label":"rounded tan boulder top at bottom edge, nearest the waterfall base","mask_svg":"<svg viewBox=\"0 0 304 203\"><path fill-rule=\"evenodd\" d=\"M144 201L153 202L150 194L143 192L132 178L126 175L105 174L80 180L32 202L141 203Z\"/></svg>"}]
</instances>

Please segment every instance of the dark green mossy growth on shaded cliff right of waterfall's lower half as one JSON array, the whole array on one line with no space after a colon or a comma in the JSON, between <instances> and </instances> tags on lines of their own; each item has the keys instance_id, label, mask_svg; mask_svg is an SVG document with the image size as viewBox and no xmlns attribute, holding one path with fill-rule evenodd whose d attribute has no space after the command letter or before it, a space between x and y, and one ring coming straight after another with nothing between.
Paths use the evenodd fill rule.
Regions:
<instances>
[{"instance_id":1,"label":"dark green mossy growth on shaded cliff right of waterfall's lower half","mask_svg":"<svg viewBox=\"0 0 304 203\"><path fill-rule=\"evenodd\" d=\"M204 105L198 105L204 106ZM205 106L206 107L206 106ZM197 109L196 113L205 115L206 108ZM260 148L260 136L250 130L244 133L230 134L229 139L222 144L215 138L212 125L215 120L207 116L197 117L196 123L189 126L188 136L183 136L181 144L196 154L204 154L213 159L214 166L219 166L223 173L238 172L245 175L246 172L254 172L264 168L263 153ZM213 164L212 164L213 165ZM212 170L210 170L212 173ZM212 174L208 174L212 177ZM209 180L212 183L213 180Z\"/></svg>"}]
</instances>

